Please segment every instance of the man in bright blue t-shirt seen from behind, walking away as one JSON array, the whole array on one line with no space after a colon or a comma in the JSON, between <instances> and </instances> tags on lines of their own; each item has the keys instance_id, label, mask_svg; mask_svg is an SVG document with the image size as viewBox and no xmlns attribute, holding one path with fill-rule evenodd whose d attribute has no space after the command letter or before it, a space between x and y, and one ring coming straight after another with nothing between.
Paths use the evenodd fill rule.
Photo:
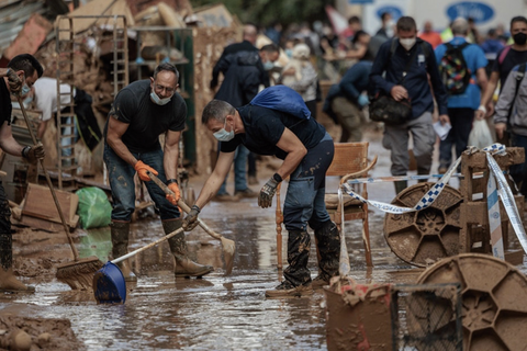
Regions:
<instances>
[{"instance_id":1,"label":"man in bright blue t-shirt seen from behind, walking away","mask_svg":"<svg viewBox=\"0 0 527 351\"><path fill-rule=\"evenodd\" d=\"M452 161L452 146L456 145L456 158L461 156L467 149L469 134L472 129L475 111L480 106L481 91L486 88L486 65L487 60L483 50L475 44L466 45L469 33L469 22L463 18L458 18L451 25L453 38L450 45L464 46L462 55L470 71L470 82L462 93L450 94L448 97L448 116L452 128L445 140L439 145L439 173L445 173ZM436 48L436 60L440 65L447 46L439 45Z\"/></svg>"}]
</instances>

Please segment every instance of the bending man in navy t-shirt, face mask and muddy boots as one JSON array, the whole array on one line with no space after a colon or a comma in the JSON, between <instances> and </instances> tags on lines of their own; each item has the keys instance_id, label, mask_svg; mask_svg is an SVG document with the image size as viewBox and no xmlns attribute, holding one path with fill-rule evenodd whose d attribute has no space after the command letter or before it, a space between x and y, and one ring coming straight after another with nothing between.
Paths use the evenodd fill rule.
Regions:
<instances>
[{"instance_id":1,"label":"bending man in navy t-shirt, face mask and muddy boots","mask_svg":"<svg viewBox=\"0 0 527 351\"><path fill-rule=\"evenodd\" d=\"M267 291L266 296L299 296L312 293L312 285L327 284L338 274L340 247L337 227L324 202L326 170L334 156L329 134L314 118L251 104L235 109L221 100L213 100L205 106L202 123L222 141L221 152L214 171L183 220L183 228L191 230L198 224L198 214L220 189L236 147L245 145L253 152L274 155L283 163L261 189L258 205L270 207L278 184L290 178L283 205L283 224L289 231L289 267L283 271L283 282ZM313 284L307 269L311 244L307 225L315 231L321 253L322 273Z\"/></svg>"}]
</instances>

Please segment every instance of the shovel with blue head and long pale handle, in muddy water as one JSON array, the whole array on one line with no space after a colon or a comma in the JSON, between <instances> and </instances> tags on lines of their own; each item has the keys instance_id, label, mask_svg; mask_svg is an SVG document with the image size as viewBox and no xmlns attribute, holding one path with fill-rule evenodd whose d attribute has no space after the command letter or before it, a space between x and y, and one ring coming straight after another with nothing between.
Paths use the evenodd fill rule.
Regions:
<instances>
[{"instance_id":1,"label":"shovel with blue head and long pale handle, in muddy water","mask_svg":"<svg viewBox=\"0 0 527 351\"><path fill-rule=\"evenodd\" d=\"M124 281L123 273L115 263L148 250L149 248L170 239L181 231L183 231L183 228L173 230L172 233L148 244L147 246L121 256L113 261L108 261L104 263L104 265L96 272L96 275L93 275L93 294L96 295L97 302L99 304L124 304L126 301L126 282Z\"/></svg>"}]
</instances>

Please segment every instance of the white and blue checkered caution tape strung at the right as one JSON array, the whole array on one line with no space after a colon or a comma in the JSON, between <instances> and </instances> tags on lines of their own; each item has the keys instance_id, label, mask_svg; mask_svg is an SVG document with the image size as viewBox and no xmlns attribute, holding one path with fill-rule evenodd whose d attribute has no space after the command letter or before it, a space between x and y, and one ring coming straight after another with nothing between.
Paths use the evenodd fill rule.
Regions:
<instances>
[{"instance_id":1,"label":"white and blue checkered caution tape strung at the right","mask_svg":"<svg viewBox=\"0 0 527 351\"><path fill-rule=\"evenodd\" d=\"M475 147L469 146L468 150L466 152L473 154L478 149ZM518 237L518 240L522 245L522 248L524 251L527 253L527 236L525 234L525 229L518 213L518 208L516 207L516 202L514 201L514 195L513 192L511 191L511 188L508 186L507 181L505 180L505 177L503 174L503 171L500 169L500 166L497 162L494 160L492 157L493 155L504 155L506 151L506 148L502 144L493 144L491 146L487 146L483 148L483 151L486 154L486 159L489 162L489 169L491 170L492 176L495 178L495 181L497 182L497 195L502 199L502 203L505 207L505 211L507 212L511 225L514 228L514 231L516 236ZM448 169L448 171L434 184L434 186L427 191L423 197L417 202L417 204L414 207L402 207L402 206L396 206L379 201L373 201L373 200L367 200L354 192L351 189L351 184L349 181L347 183L344 183L341 186L348 193L351 197L359 200L362 203L367 203L375 208L381 210L382 212L385 213L392 213L392 214L403 214L403 213L410 213L410 212L417 212L421 210L425 210L429 207L434 201L439 196L441 191L445 189L445 185L448 183L450 178L453 174L453 171L458 168L459 163L461 162L461 157L459 157L456 162L453 162L452 166ZM492 177L490 177L492 178ZM373 182L373 181L372 181ZM492 228L497 228L496 226L496 218L495 218L495 211L493 212L492 216L492 222L491 217L489 218L490 225ZM498 213L498 211L497 211ZM501 219L498 219L501 222ZM496 231L497 235L497 231ZM496 250L497 249L497 239L496 239ZM503 241L502 241L502 247L503 247ZM494 246L493 246L493 251L494 251ZM496 254L498 252L496 251Z\"/></svg>"}]
</instances>

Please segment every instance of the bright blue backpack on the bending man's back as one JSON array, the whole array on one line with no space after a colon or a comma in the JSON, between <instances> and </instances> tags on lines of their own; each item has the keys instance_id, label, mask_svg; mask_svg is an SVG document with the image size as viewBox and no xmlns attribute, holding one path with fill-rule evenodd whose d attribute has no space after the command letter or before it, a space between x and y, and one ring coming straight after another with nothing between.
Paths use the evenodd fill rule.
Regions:
<instances>
[{"instance_id":1,"label":"bright blue backpack on the bending man's back","mask_svg":"<svg viewBox=\"0 0 527 351\"><path fill-rule=\"evenodd\" d=\"M285 86L272 86L264 89L249 104L285 112L301 120L311 118L311 112L302 97Z\"/></svg>"}]
</instances>

